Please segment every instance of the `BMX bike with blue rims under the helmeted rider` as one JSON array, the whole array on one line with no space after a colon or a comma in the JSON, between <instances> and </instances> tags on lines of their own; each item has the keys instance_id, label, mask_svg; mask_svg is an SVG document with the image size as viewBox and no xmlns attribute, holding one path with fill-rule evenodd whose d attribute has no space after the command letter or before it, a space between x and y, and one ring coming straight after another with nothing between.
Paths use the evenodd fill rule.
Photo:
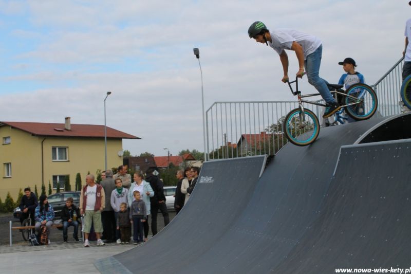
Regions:
<instances>
[{"instance_id":1,"label":"BMX bike with blue rims under the helmeted rider","mask_svg":"<svg viewBox=\"0 0 411 274\"><path fill-rule=\"evenodd\" d=\"M319 93L301 95L298 90L298 78L295 81L287 82L291 93L298 98L299 107L290 111L284 119L283 129L287 139L295 145L309 145L315 141L320 133L320 122L317 116L308 108L304 108L303 103L326 106L323 103L304 100L303 98L319 96ZM295 91L292 84L295 83ZM366 120L372 117L377 111L378 100L375 91L366 84L354 84L347 90L343 85L328 84L331 94L337 98L341 106L341 115L345 113L354 120ZM338 118L337 118L338 119ZM344 120L341 119L343 122Z\"/></svg>"}]
</instances>

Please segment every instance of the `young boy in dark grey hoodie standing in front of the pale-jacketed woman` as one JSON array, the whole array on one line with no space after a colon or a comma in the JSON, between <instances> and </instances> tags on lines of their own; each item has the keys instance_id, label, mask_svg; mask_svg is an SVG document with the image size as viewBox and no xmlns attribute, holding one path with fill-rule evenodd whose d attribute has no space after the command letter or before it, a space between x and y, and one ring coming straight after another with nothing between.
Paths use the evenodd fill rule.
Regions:
<instances>
[{"instance_id":1,"label":"young boy in dark grey hoodie standing in front of the pale-jacketed woman","mask_svg":"<svg viewBox=\"0 0 411 274\"><path fill-rule=\"evenodd\" d=\"M139 191L133 191L135 200L130 207L130 219L133 223L133 240L134 244L140 244L143 242L143 223L145 222L145 216L147 215L147 210L145 208L145 203L141 199L141 194Z\"/></svg>"}]
</instances>

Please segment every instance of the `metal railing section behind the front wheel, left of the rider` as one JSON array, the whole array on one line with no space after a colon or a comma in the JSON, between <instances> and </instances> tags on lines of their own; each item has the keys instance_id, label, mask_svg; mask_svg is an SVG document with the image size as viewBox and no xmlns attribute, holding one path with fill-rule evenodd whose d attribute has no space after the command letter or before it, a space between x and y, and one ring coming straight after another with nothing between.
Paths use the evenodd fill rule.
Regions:
<instances>
[{"instance_id":1,"label":"metal railing section behind the front wheel, left of the rider","mask_svg":"<svg viewBox=\"0 0 411 274\"><path fill-rule=\"evenodd\" d=\"M207 159L274 155L287 142L283 120L297 101L215 102L206 111ZM307 105L321 117L321 107Z\"/></svg>"}]
</instances>

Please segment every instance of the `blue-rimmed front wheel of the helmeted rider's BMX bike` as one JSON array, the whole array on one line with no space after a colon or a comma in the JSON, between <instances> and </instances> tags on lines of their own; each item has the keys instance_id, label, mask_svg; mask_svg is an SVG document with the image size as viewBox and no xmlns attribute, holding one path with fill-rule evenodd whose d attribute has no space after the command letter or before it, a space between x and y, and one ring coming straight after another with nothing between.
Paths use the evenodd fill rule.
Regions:
<instances>
[{"instance_id":1,"label":"blue-rimmed front wheel of the helmeted rider's BMX bike","mask_svg":"<svg viewBox=\"0 0 411 274\"><path fill-rule=\"evenodd\" d=\"M320 133L320 122L309 109L295 108L284 120L283 129L287 139L295 145L309 145Z\"/></svg>"}]
</instances>

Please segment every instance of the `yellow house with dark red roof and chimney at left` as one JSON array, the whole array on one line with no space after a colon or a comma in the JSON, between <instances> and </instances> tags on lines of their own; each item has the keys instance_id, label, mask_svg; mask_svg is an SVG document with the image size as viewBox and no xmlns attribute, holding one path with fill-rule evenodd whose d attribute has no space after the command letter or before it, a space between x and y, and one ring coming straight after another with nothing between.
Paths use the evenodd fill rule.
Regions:
<instances>
[{"instance_id":1,"label":"yellow house with dark red roof and chimney at left","mask_svg":"<svg viewBox=\"0 0 411 274\"><path fill-rule=\"evenodd\" d=\"M107 168L122 165L122 140L140 139L137 136L106 127ZM42 182L55 190L69 180L74 190L76 174L83 185L88 172L104 170L104 125L0 121L0 197L7 192L17 197L19 189L37 186Z\"/></svg>"}]
</instances>

